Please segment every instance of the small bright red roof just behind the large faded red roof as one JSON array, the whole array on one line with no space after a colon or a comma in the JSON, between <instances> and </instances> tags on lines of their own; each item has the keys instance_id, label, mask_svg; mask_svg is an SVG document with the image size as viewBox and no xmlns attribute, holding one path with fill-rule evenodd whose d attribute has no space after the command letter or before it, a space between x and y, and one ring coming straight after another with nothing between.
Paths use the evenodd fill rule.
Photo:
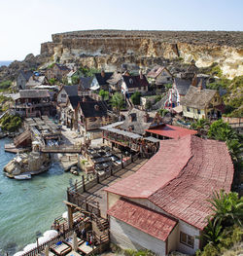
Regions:
<instances>
[{"instance_id":1,"label":"small bright red roof just behind the large faded red roof","mask_svg":"<svg viewBox=\"0 0 243 256\"><path fill-rule=\"evenodd\" d=\"M154 134L158 134L161 136L169 137L169 138L181 138L187 136L189 134L196 134L197 131L189 128L179 128L170 125L162 125L158 128L150 128L146 129L146 131L152 132Z\"/></svg>"}]
</instances>

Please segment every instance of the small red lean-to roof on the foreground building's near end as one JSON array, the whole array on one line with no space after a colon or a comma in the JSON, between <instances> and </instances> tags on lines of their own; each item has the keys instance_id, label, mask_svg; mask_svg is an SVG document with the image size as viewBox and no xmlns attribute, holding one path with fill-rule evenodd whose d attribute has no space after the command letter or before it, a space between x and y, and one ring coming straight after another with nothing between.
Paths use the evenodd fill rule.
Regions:
<instances>
[{"instance_id":1,"label":"small red lean-to roof on the foreground building's near end","mask_svg":"<svg viewBox=\"0 0 243 256\"><path fill-rule=\"evenodd\" d=\"M132 201L119 200L108 211L110 216L163 241L168 238L177 220Z\"/></svg>"}]
</instances>

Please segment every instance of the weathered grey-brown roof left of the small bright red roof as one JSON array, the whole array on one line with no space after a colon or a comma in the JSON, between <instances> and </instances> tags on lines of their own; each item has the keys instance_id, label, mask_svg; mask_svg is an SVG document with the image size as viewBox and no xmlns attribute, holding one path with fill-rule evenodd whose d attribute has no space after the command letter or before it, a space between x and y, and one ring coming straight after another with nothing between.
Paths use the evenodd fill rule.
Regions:
<instances>
[{"instance_id":1,"label":"weathered grey-brown roof left of the small bright red roof","mask_svg":"<svg viewBox=\"0 0 243 256\"><path fill-rule=\"evenodd\" d=\"M146 115L145 111L133 108L128 115L125 117L121 128L124 130L129 130L132 128L132 131L138 134L144 134L145 129L150 128L154 118L149 117L148 122L144 122L144 116ZM132 117L132 121L131 121Z\"/></svg>"}]
</instances>

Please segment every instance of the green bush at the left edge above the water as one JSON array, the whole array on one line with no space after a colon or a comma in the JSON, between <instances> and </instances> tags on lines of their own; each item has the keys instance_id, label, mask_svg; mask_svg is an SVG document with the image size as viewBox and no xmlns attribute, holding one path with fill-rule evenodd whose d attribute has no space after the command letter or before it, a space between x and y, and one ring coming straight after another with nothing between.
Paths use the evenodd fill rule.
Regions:
<instances>
[{"instance_id":1,"label":"green bush at the left edge above the water","mask_svg":"<svg viewBox=\"0 0 243 256\"><path fill-rule=\"evenodd\" d=\"M0 125L2 130L4 131L14 132L21 127L22 121L21 121L21 118L17 115L12 116L7 114L1 119Z\"/></svg>"}]
</instances>

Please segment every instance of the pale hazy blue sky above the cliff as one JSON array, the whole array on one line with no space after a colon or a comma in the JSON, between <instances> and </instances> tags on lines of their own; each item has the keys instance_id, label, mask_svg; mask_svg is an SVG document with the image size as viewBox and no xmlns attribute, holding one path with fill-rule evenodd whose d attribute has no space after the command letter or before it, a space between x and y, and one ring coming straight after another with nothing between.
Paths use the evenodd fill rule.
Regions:
<instances>
[{"instance_id":1,"label":"pale hazy blue sky above the cliff","mask_svg":"<svg viewBox=\"0 0 243 256\"><path fill-rule=\"evenodd\" d=\"M0 60L86 29L242 31L243 0L0 0Z\"/></svg>"}]
</instances>

